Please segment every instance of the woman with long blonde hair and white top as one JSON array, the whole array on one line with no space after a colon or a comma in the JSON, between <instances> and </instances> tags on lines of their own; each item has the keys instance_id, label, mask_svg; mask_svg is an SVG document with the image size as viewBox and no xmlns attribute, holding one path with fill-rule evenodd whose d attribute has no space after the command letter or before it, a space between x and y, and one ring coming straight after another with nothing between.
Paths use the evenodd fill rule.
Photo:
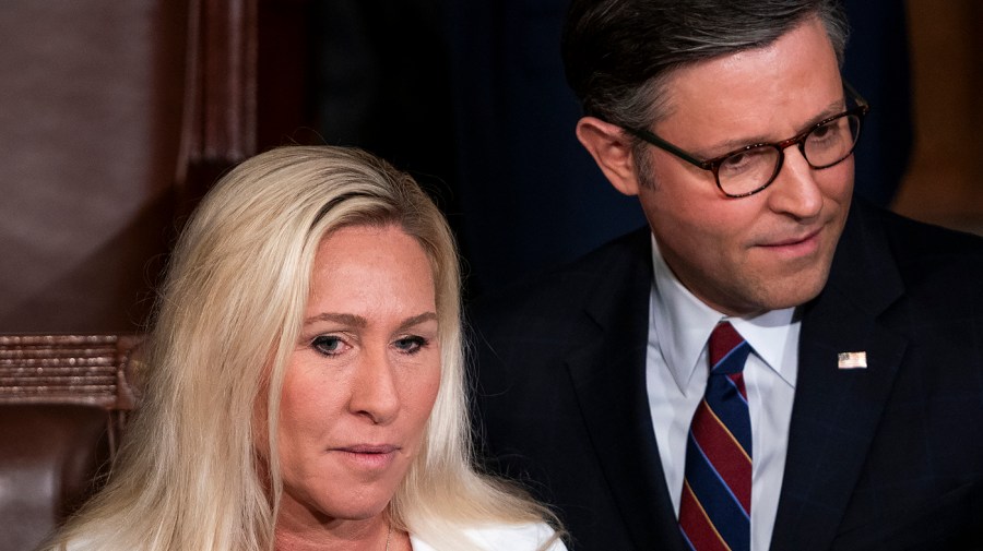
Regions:
<instances>
[{"instance_id":1,"label":"woman with long blonde hair and white top","mask_svg":"<svg viewBox=\"0 0 983 551\"><path fill-rule=\"evenodd\" d=\"M458 257L355 149L235 168L175 250L107 487L47 549L562 550L471 468Z\"/></svg>"}]
</instances>

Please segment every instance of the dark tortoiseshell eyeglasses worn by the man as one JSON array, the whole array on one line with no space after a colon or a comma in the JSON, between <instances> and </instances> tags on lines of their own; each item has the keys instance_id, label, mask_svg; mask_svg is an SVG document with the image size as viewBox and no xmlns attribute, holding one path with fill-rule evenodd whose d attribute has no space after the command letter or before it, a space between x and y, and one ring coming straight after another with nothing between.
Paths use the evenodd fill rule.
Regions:
<instances>
[{"instance_id":1,"label":"dark tortoiseshell eyeglasses worn by the man","mask_svg":"<svg viewBox=\"0 0 983 551\"><path fill-rule=\"evenodd\" d=\"M786 147L797 145L806 163L817 170L838 165L853 153L860 137L861 122L871 107L853 86L844 82L843 88L857 104L856 107L824 119L787 140L746 145L709 160L700 160L648 130L627 127L625 130L691 165L713 172L716 187L724 195L746 197L771 185L778 178L785 160Z\"/></svg>"}]
</instances>

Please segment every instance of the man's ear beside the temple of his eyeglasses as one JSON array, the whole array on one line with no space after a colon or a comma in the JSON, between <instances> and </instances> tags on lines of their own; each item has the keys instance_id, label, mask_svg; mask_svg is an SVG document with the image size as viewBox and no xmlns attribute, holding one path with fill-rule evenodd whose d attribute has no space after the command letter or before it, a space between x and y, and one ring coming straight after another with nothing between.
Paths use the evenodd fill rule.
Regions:
<instances>
[{"instance_id":1,"label":"man's ear beside the temple of his eyeglasses","mask_svg":"<svg viewBox=\"0 0 983 551\"><path fill-rule=\"evenodd\" d=\"M625 195L638 195L631 139L621 127L596 117L583 117L577 122L577 139L616 190Z\"/></svg>"}]
</instances>

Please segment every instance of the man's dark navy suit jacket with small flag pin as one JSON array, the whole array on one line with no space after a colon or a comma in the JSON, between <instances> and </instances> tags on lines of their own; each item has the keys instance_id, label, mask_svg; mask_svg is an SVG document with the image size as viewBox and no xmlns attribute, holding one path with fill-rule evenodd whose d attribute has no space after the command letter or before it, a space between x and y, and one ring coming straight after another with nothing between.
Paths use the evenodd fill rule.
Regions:
<instances>
[{"instance_id":1,"label":"man's dark navy suit jacket with small flag pin","mask_svg":"<svg viewBox=\"0 0 983 551\"><path fill-rule=\"evenodd\" d=\"M684 549L646 395L649 239L472 312L489 466L577 551ZM802 315L771 549L983 548L983 240L854 205ZM867 369L838 369L843 351Z\"/></svg>"}]
</instances>

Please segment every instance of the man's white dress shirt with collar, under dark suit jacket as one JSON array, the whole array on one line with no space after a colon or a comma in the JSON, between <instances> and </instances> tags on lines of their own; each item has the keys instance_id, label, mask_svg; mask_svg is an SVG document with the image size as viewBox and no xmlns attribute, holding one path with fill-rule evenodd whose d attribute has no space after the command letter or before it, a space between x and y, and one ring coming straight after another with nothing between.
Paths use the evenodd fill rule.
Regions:
<instances>
[{"instance_id":1,"label":"man's white dress shirt with collar, under dark suit jacket","mask_svg":"<svg viewBox=\"0 0 983 551\"><path fill-rule=\"evenodd\" d=\"M767 551L778 512L795 395L801 322L794 309L727 318L697 299L665 264L652 239L655 278L649 301L646 382L662 470L676 517L686 439L709 376L707 340L727 320L753 352L744 368L751 423L751 551Z\"/></svg>"}]
</instances>

